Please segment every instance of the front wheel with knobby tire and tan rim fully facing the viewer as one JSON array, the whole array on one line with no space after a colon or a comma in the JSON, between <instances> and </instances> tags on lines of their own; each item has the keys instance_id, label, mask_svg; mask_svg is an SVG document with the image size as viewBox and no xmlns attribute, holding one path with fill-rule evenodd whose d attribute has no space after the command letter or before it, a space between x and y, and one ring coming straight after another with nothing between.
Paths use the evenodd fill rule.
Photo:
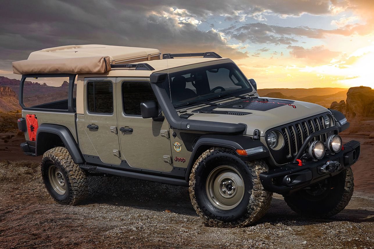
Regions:
<instances>
[{"instance_id":1,"label":"front wheel with knobby tire and tan rim fully facing the viewer","mask_svg":"<svg viewBox=\"0 0 374 249\"><path fill-rule=\"evenodd\" d=\"M210 227L244 227L263 217L270 206L273 193L263 188L258 177L261 172L267 170L268 167L264 161L244 162L232 149L212 147L202 153L193 165L189 191L191 203L204 224ZM210 180L212 175L217 175L215 177L217 181ZM214 188L209 187L216 183L218 183L216 186L222 186L222 184L219 185L221 180L227 184L225 175L233 176L232 184L236 180L243 183L242 192L240 192L240 186L237 186L235 190L239 191L236 194L240 194L242 199L237 200L232 206L223 205L218 201L218 199L222 200L222 196L232 189L231 182L229 188L225 189L226 192L221 195L214 192L212 190ZM213 198L214 196L216 198Z\"/></svg>"}]
</instances>

